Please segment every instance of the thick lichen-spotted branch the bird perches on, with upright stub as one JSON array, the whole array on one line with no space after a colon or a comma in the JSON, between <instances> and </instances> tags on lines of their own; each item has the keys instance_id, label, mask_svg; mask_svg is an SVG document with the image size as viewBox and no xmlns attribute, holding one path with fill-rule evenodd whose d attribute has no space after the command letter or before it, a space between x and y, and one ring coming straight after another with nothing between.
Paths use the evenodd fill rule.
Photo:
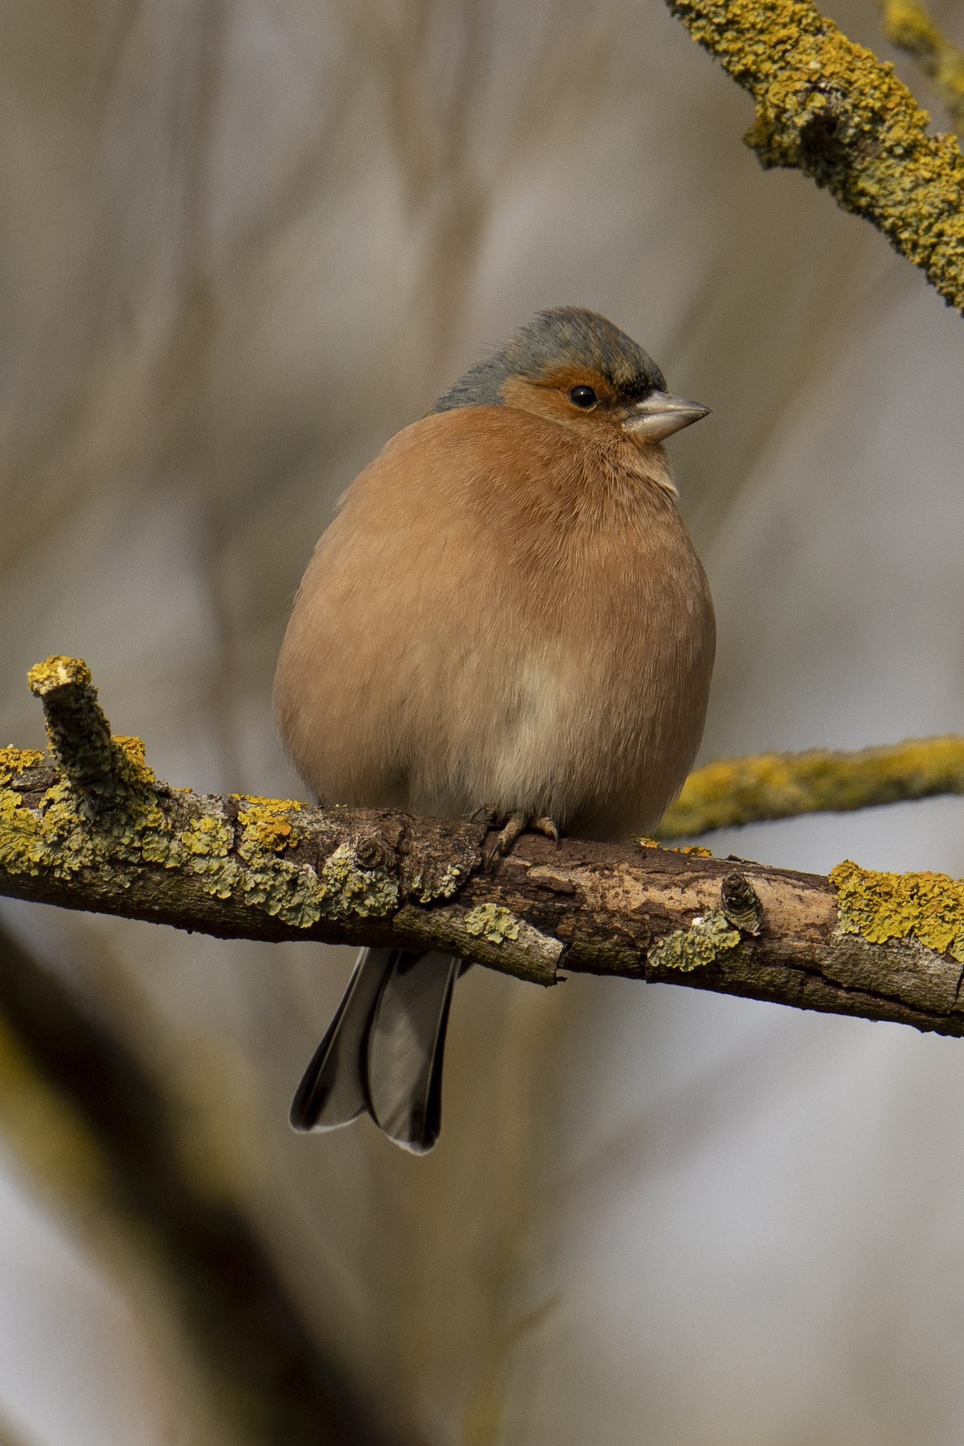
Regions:
<instances>
[{"instance_id":1,"label":"thick lichen-spotted branch the bird perches on, with upright stub","mask_svg":"<svg viewBox=\"0 0 964 1446\"><path fill-rule=\"evenodd\" d=\"M1 894L227 938L444 949L543 985L621 975L964 1034L964 885L944 875L847 860L821 878L649 840L541 836L493 869L483 824L171 788L137 739L111 737L82 662L51 658L29 681L51 750L0 750ZM919 771L908 779L919 787Z\"/></svg>"}]
</instances>

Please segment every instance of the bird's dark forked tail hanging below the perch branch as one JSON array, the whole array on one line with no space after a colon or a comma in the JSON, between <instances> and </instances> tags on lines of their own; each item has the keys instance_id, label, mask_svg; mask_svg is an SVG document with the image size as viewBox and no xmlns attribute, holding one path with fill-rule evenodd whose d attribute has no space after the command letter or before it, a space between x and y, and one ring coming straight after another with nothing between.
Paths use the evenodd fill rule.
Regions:
<instances>
[{"instance_id":1,"label":"bird's dark forked tail hanging below the perch branch","mask_svg":"<svg viewBox=\"0 0 964 1446\"><path fill-rule=\"evenodd\" d=\"M295 1129L334 1129L367 1111L397 1145L431 1150L458 967L445 954L363 949L292 1100Z\"/></svg>"}]
</instances>

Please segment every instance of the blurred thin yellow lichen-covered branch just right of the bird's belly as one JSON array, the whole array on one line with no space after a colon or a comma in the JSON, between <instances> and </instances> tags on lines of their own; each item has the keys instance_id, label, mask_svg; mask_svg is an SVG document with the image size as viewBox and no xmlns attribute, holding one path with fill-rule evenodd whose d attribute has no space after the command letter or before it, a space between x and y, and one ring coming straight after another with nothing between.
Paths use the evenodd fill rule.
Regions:
<instances>
[{"instance_id":1,"label":"blurred thin yellow lichen-covered branch just right of the bird's belly","mask_svg":"<svg viewBox=\"0 0 964 1446\"><path fill-rule=\"evenodd\" d=\"M662 840L714 829L844 813L935 794L964 794L964 737L911 737L854 753L756 753L718 758L687 779L659 824Z\"/></svg>"}]
</instances>

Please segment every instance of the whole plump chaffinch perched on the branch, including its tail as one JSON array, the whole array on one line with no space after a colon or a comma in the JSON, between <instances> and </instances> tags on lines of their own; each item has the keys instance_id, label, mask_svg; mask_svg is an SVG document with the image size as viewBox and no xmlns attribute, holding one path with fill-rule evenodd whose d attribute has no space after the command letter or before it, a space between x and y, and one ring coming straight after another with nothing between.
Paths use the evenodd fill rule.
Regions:
<instances>
[{"instance_id":1,"label":"whole plump chaffinch perched on the branch, including its tail","mask_svg":"<svg viewBox=\"0 0 964 1446\"><path fill-rule=\"evenodd\" d=\"M581 307L542 311L397 432L343 495L275 678L282 743L325 804L525 829L652 829L701 742L715 649L663 448L708 408ZM441 1129L452 986L434 953L363 949L291 1109Z\"/></svg>"}]
</instances>

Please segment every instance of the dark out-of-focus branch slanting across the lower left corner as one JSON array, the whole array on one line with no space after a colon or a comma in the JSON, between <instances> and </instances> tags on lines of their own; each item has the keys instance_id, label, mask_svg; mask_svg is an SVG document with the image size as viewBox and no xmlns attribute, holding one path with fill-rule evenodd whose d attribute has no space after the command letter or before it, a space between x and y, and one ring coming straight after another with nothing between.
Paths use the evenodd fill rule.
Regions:
<instances>
[{"instance_id":1,"label":"dark out-of-focus branch slanting across the lower left corner","mask_svg":"<svg viewBox=\"0 0 964 1446\"><path fill-rule=\"evenodd\" d=\"M212 1436L237 1446L387 1446L364 1401L312 1340L264 1245L192 1170L186 1122L139 1061L0 930L0 1124L33 1180L137 1291L182 1327ZM256 1303L251 1309L251 1303ZM0 1429L0 1442L3 1432Z\"/></svg>"}]
</instances>

